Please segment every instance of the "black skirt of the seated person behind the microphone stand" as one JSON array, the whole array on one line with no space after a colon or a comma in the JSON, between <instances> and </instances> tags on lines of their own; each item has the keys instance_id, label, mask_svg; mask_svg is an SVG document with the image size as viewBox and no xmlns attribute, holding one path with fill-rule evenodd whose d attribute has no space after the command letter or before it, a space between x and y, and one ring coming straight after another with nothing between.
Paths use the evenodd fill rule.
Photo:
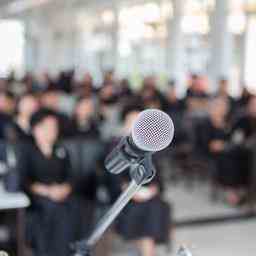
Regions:
<instances>
[{"instance_id":1,"label":"black skirt of the seated person behind the microphone stand","mask_svg":"<svg viewBox=\"0 0 256 256\"><path fill-rule=\"evenodd\" d=\"M160 176L153 183L161 191ZM171 230L171 207L163 201L160 194L144 201L132 200L117 221L117 231L126 240L151 238L156 243L169 243Z\"/></svg>"}]
</instances>

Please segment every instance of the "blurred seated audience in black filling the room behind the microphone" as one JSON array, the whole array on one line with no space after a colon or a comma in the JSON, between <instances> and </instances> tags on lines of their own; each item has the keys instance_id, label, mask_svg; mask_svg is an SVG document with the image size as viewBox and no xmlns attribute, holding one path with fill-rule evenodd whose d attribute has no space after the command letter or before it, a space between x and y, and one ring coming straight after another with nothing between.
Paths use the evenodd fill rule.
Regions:
<instances>
[{"instance_id":1,"label":"blurred seated audience in black filling the room behind the microphone","mask_svg":"<svg viewBox=\"0 0 256 256\"><path fill-rule=\"evenodd\" d=\"M27 241L35 255L68 255L68 244L92 230L97 209L108 207L127 185L127 177L107 174L104 158L143 109L168 113L175 137L155 156L154 182L117 221L116 232L136 241L141 255L154 256L155 244L170 239L171 208L162 196L170 183L205 182L213 203L253 207L256 97L243 88L232 98L229 86L220 78L217 92L210 93L207 79L192 74L179 98L174 80L159 90L157 78L148 76L133 90L111 71L100 86L90 74L77 82L73 71L54 80L31 74L22 81L1 79L2 179L7 190L31 199Z\"/></svg>"}]
</instances>

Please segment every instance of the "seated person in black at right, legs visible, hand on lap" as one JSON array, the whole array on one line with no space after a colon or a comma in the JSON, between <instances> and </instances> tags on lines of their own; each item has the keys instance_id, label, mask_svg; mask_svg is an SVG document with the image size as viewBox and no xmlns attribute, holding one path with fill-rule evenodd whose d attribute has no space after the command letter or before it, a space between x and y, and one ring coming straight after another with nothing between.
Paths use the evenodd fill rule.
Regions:
<instances>
[{"instance_id":1,"label":"seated person in black at right, legs visible, hand on lap","mask_svg":"<svg viewBox=\"0 0 256 256\"><path fill-rule=\"evenodd\" d=\"M213 99L210 103L210 119L199 130L202 152L208 152L215 164L214 182L226 192L226 200L237 205L242 197L242 188L248 184L247 154L231 141L228 126L228 101Z\"/></svg>"}]
</instances>

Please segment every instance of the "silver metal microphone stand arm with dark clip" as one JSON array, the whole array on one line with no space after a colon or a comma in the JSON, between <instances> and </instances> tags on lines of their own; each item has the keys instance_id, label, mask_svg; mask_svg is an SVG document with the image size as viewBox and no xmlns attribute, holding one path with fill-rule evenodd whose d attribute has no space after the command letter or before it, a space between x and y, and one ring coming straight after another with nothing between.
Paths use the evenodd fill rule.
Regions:
<instances>
[{"instance_id":1,"label":"silver metal microphone stand arm with dark clip","mask_svg":"<svg viewBox=\"0 0 256 256\"><path fill-rule=\"evenodd\" d=\"M149 183L155 176L155 168L152 163L152 155L146 155L140 162L131 163L130 177L131 182L126 190L119 196L113 206L99 220L94 231L88 239L83 239L72 245L75 251L74 256L91 256L91 251L100 240L107 228L113 223L119 213L133 198L142 185Z\"/></svg>"}]
</instances>

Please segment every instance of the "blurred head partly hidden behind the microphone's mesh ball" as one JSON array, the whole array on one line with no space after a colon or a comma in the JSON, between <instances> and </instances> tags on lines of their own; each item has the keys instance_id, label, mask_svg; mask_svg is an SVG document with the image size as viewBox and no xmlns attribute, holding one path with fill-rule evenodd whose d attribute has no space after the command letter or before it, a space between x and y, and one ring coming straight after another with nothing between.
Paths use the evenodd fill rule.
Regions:
<instances>
[{"instance_id":1,"label":"blurred head partly hidden behind the microphone's mesh ball","mask_svg":"<svg viewBox=\"0 0 256 256\"><path fill-rule=\"evenodd\" d=\"M143 108L139 103L130 104L123 108L121 118L123 121L123 132L125 134L130 133L133 122L141 111L143 111Z\"/></svg>"}]
</instances>

